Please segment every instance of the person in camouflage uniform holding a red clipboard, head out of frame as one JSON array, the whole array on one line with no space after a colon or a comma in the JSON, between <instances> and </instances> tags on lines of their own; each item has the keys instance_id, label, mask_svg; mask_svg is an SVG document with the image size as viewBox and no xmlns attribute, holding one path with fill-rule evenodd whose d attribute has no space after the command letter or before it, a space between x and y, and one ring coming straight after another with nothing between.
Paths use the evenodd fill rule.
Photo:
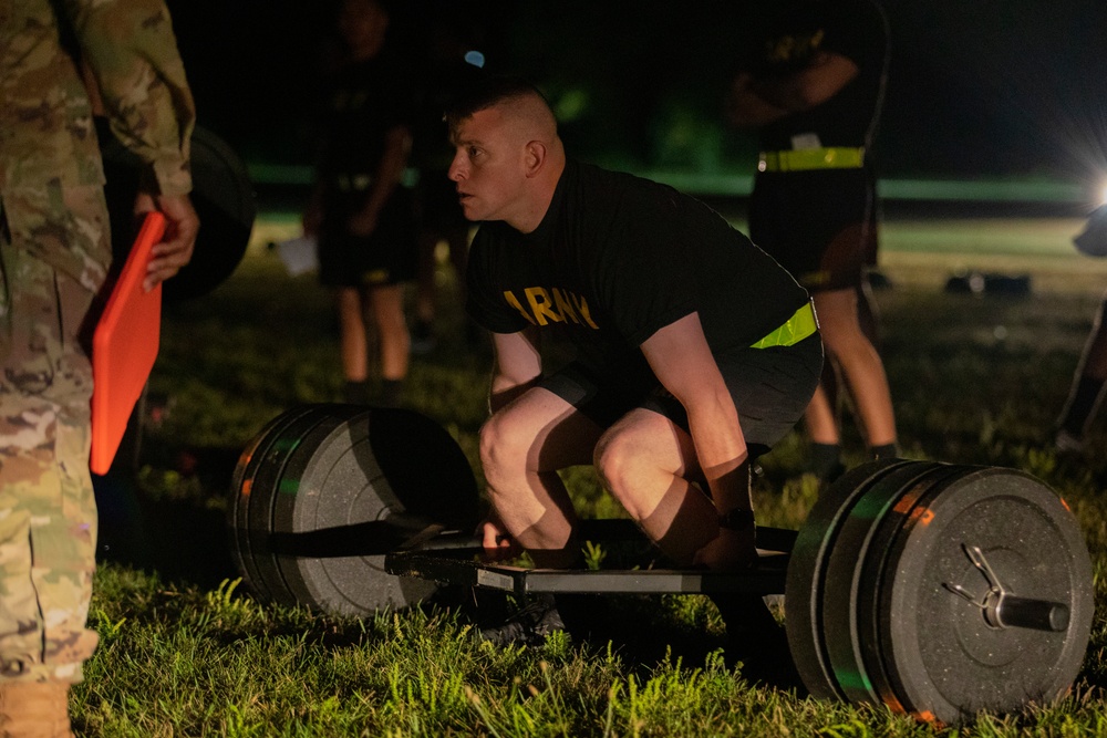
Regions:
<instances>
[{"instance_id":1,"label":"person in camouflage uniform holding a red clipboard, head out of frame","mask_svg":"<svg viewBox=\"0 0 1107 738\"><path fill-rule=\"evenodd\" d=\"M111 245L81 65L149 165L135 212L167 217L146 289L188 262L199 228L163 0L0 2L0 736L71 735L69 686L97 642L89 343Z\"/></svg>"}]
</instances>

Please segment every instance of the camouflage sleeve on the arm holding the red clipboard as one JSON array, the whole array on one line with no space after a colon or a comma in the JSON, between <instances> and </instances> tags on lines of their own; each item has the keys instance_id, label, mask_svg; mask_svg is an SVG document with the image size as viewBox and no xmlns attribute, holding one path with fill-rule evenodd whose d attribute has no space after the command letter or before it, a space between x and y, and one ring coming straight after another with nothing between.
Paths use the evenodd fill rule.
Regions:
<instances>
[{"instance_id":1,"label":"camouflage sleeve on the arm holding the red clipboard","mask_svg":"<svg viewBox=\"0 0 1107 738\"><path fill-rule=\"evenodd\" d=\"M192 190L196 113L163 0L65 0L112 131L152 165L157 193Z\"/></svg>"}]
</instances>

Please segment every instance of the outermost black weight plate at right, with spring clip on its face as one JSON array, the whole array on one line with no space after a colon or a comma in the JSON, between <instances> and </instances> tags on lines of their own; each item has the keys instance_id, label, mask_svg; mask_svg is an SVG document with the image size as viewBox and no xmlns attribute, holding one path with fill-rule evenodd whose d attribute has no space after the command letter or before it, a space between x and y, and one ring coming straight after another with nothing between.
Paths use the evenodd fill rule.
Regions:
<instances>
[{"instance_id":1,"label":"outermost black weight plate at right, with spring clip on its face","mask_svg":"<svg viewBox=\"0 0 1107 738\"><path fill-rule=\"evenodd\" d=\"M964 469L893 540L879 605L880 649L896 694L908 711L946 725L1067 692L1094 610L1079 526L1053 490L1021 471ZM987 591L964 545L981 549L1008 593L1065 604L1067 630L989 625L980 607L949 589L981 599Z\"/></svg>"}]
</instances>

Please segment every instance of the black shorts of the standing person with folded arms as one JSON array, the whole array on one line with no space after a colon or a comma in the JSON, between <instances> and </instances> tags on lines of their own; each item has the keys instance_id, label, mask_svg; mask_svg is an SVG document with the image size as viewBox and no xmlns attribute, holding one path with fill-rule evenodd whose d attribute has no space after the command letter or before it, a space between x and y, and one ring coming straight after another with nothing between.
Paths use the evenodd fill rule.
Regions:
<instances>
[{"instance_id":1,"label":"black shorts of the standing person with folded arms","mask_svg":"<svg viewBox=\"0 0 1107 738\"><path fill-rule=\"evenodd\" d=\"M763 171L749 238L811 292L856 288L876 263L875 199L865 169Z\"/></svg>"}]
</instances>

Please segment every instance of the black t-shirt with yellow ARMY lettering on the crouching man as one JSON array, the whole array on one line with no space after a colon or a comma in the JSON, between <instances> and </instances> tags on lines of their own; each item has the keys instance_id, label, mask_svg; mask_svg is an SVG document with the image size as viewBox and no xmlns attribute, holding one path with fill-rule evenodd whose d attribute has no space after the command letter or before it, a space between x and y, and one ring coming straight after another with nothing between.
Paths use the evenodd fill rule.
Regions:
<instances>
[{"instance_id":1,"label":"black t-shirt with yellow ARMY lettering on the crouching man","mask_svg":"<svg viewBox=\"0 0 1107 738\"><path fill-rule=\"evenodd\" d=\"M495 333L537 326L544 358L568 344L598 376L649 372L639 346L692 312L718 356L759 341L808 299L699 200L573 160L534 232L482 224L467 280L476 322Z\"/></svg>"}]
</instances>

